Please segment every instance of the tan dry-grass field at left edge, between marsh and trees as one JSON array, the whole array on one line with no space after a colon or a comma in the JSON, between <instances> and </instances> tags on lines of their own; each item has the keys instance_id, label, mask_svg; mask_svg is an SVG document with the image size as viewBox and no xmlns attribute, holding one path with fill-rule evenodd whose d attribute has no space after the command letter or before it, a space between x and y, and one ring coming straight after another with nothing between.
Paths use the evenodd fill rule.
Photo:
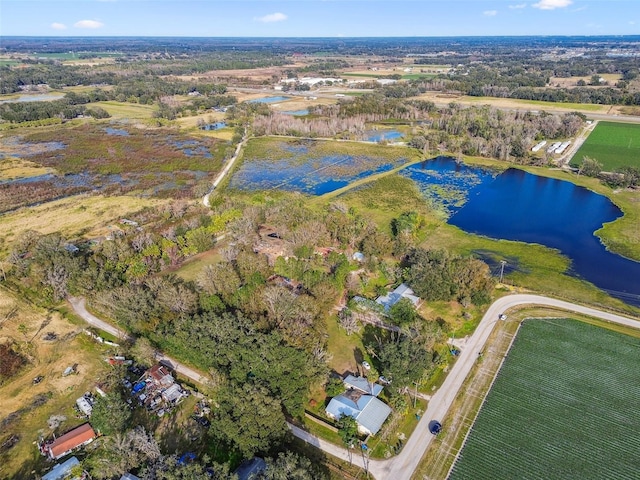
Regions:
<instances>
[{"instance_id":1,"label":"tan dry-grass field at left edge, between marsh and trees","mask_svg":"<svg viewBox=\"0 0 640 480\"><path fill-rule=\"evenodd\" d=\"M0 216L0 252L7 252L25 230L36 230L43 234L60 232L67 238L93 238L105 235L108 227L122 217L167 202L169 200L129 196L77 195L21 208Z\"/></svg>"}]
</instances>

